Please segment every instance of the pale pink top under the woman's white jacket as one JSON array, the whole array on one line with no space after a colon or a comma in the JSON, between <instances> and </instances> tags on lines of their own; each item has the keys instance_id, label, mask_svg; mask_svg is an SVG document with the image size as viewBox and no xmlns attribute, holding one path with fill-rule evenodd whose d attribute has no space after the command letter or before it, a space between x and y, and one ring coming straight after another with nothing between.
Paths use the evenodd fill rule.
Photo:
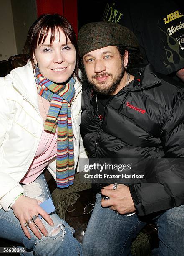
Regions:
<instances>
[{"instance_id":1,"label":"pale pink top under the woman's white jacket","mask_svg":"<svg viewBox=\"0 0 184 256\"><path fill-rule=\"evenodd\" d=\"M44 100L43 97L38 95L38 107L40 114L45 123L45 119L48 113L50 102ZM35 158L33 159L28 172L25 174L20 183L29 184L33 182L48 166L51 159L56 157L57 153L57 133L55 135L47 133L43 130L40 143L38 145Z\"/></svg>"}]
</instances>

